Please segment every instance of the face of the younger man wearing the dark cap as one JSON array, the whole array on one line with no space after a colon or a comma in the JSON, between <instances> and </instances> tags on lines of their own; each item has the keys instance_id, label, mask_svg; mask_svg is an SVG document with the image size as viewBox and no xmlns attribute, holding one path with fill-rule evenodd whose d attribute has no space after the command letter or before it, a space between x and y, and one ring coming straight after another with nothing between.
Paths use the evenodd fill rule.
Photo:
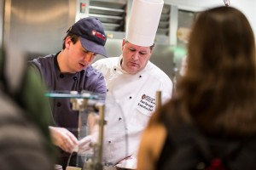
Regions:
<instances>
[{"instance_id":1,"label":"face of the younger man wearing the dark cap","mask_svg":"<svg viewBox=\"0 0 256 170\"><path fill-rule=\"evenodd\" d=\"M67 54L67 68L69 72L79 72L88 67L96 58L96 54L87 51L83 48L80 40L73 43L71 40L67 40L66 45Z\"/></svg>"}]
</instances>

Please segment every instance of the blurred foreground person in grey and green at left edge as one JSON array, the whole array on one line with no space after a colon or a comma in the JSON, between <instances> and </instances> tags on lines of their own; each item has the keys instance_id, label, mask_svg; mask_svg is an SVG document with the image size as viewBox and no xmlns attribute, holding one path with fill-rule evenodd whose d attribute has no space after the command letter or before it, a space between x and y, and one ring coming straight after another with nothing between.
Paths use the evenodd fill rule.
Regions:
<instances>
[{"instance_id":1,"label":"blurred foreground person in grey and green at left edge","mask_svg":"<svg viewBox=\"0 0 256 170\"><path fill-rule=\"evenodd\" d=\"M55 151L48 128L49 101L37 72L26 64L15 44L0 49L1 169L51 170Z\"/></svg>"}]
</instances>

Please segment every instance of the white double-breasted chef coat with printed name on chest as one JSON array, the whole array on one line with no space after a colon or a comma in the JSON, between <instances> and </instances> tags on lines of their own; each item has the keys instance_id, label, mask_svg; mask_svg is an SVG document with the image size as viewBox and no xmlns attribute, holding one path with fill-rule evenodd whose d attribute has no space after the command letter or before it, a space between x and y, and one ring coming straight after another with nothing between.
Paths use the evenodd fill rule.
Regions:
<instances>
[{"instance_id":1,"label":"white double-breasted chef coat with printed name on chest","mask_svg":"<svg viewBox=\"0 0 256 170\"><path fill-rule=\"evenodd\" d=\"M155 111L156 91L161 101L172 96L172 81L164 71L148 61L143 71L128 74L119 57L97 60L92 66L103 73L107 83L106 120L103 157L116 164L137 154L143 129Z\"/></svg>"}]
</instances>

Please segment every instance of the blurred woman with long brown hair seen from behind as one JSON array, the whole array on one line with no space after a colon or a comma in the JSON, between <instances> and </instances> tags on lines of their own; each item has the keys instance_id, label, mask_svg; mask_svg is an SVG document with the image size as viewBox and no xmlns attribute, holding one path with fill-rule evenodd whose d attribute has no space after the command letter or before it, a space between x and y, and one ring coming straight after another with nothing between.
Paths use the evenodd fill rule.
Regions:
<instances>
[{"instance_id":1,"label":"blurred woman with long brown hair seen from behind","mask_svg":"<svg viewBox=\"0 0 256 170\"><path fill-rule=\"evenodd\" d=\"M238 143L236 155L223 162L226 169L256 169L255 57L253 31L241 11L216 7L201 12L189 38L187 71L172 99L150 119L137 170L183 169L178 167L188 159L174 160L180 153L174 136L186 127L183 138L189 139L195 128L207 141L224 144L210 147L212 156L224 156Z\"/></svg>"}]
</instances>

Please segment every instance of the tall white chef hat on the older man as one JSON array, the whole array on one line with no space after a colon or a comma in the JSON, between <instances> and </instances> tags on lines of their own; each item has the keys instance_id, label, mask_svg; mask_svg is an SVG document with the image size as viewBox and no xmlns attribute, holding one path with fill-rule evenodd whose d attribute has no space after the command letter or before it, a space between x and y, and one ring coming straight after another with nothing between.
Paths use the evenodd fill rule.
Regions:
<instances>
[{"instance_id":1,"label":"tall white chef hat on the older man","mask_svg":"<svg viewBox=\"0 0 256 170\"><path fill-rule=\"evenodd\" d=\"M160 22L163 0L133 0L126 39L135 45L149 47Z\"/></svg>"}]
</instances>

